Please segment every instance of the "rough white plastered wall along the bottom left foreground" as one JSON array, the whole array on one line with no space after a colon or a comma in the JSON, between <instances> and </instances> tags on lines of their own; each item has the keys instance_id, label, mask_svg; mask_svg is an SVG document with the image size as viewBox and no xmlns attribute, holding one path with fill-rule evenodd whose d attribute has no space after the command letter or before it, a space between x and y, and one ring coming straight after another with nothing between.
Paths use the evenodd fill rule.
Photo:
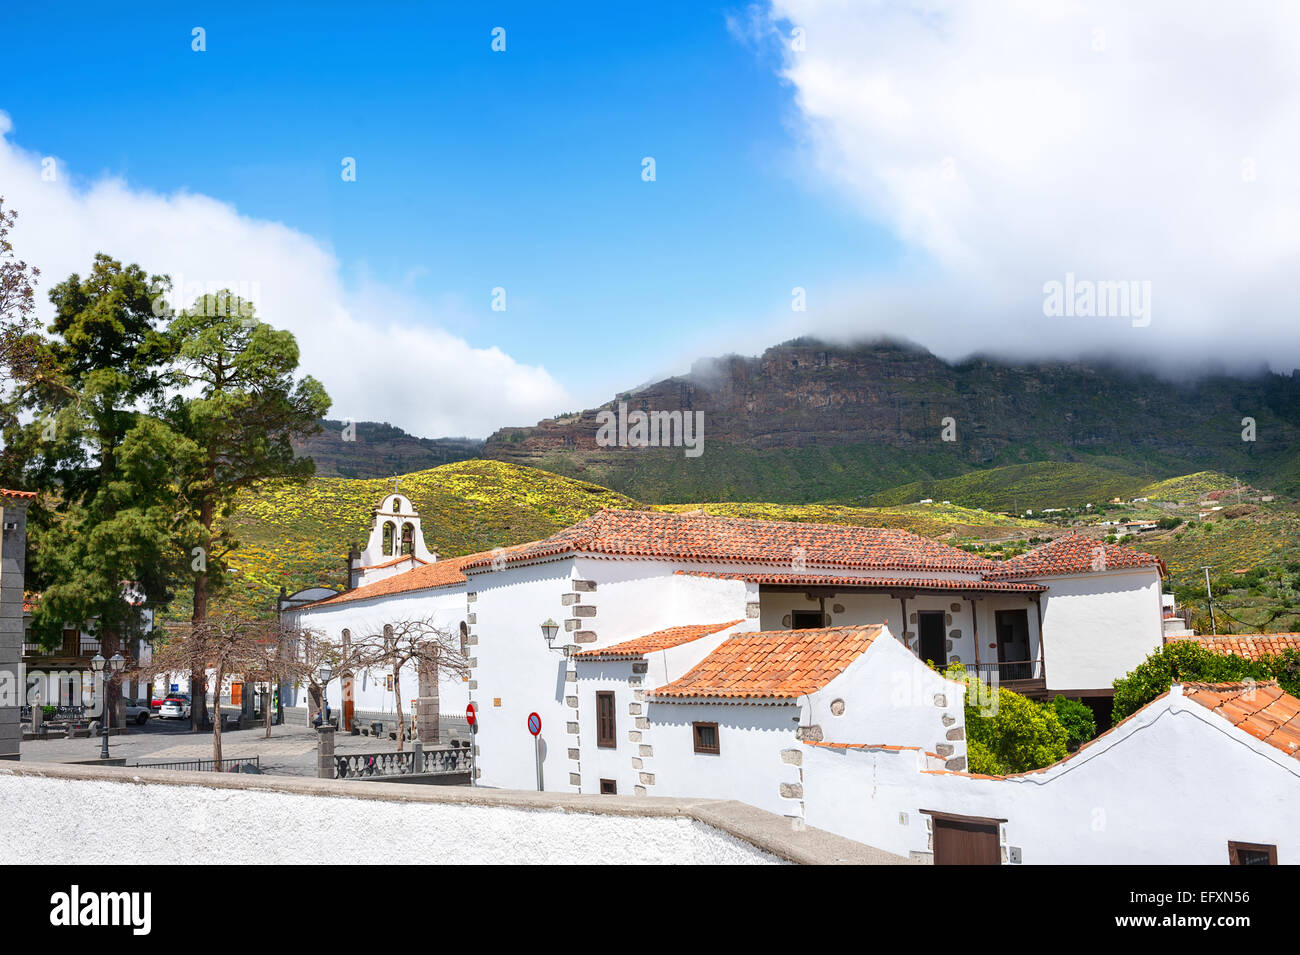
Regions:
<instances>
[{"instance_id":1,"label":"rough white plastered wall along the bottom left foreground","mask_svg":"<svg viewBox=\"0 0 1300 955\"><path fill-rule=\"evenodd\" d=\"M0 864L151 865L160 846L261 865L776 863L696 820L0 773ZM131 820L105 826L104 807ZM225 850L222 850L225 851Z\"/></svg>"}]
</instances>

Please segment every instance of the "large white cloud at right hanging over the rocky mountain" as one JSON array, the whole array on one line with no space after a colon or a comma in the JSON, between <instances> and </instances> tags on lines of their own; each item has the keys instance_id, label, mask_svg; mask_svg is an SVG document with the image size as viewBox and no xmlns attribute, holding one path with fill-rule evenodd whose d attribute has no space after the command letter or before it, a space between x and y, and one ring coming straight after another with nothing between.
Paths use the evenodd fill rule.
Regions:
<instances>
[{"instance_id":1,"label":"large white cloud at right hanging over the rocky mountain","mask_svg":"<svg viewBox=\"0 0 1300 955\"><path fill-rule=\"evenodd\" d=\"M814 330L1300 365L1300 4L772 0L732 29L780 44L811 174L923 260ZM1150 325L1044 317L1066 273L1149 281Z\"/></svg>"}]
</instances>

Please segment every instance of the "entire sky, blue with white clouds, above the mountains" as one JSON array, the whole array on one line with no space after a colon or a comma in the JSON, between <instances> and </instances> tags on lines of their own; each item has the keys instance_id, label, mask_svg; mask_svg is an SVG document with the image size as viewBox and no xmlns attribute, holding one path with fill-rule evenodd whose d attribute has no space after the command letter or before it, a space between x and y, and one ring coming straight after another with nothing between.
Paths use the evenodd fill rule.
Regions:
<instances>
[{"instance_id":1,"label":"entire sky, blue with white clouds, above the mountains","mask_svg":"<svg viewBox=\"0 0 1300 955\"><path fill-rule=\"evenodd\" d=\"M338 417L482 435L805 333L1300 365L1294 5L176 6L0 9L20 253L247 282ZM1049 316L1067 275L1148 312Z\"/></svg>"}]
</instances>

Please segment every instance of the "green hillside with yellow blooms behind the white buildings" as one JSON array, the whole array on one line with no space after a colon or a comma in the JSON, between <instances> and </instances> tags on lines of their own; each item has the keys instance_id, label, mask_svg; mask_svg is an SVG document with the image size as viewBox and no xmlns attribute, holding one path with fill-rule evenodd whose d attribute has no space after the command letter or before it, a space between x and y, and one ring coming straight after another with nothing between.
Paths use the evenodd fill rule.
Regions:
<instances>
[{"instance_id":1,"label":"green hillside with yellow blooms behind the white buildings","mask_svg":"<svg viewBox=\"0 0 1300 955\"><path fill-rule=\"evenodd\" d=\"M257 494L244 495L231 518L240 546L229 557L230 586L217 607L269 615L281 587L292 592L307 586L342 586L348 546L364 542L370 509L393 486L391 478L321 477L303 483L270 482ZM406 474L398 479L398 487L419 508L425 539L439 556L542 538L601 508L644 507L598 485L489 460L458 461ZM1243 579L1235 573L1279 568L1277 576L1282 579L1287 576L1284 568L1297 565L1300 507L1262 502L1260 492L1249 492L1240 503L1235 496L1226 498L1218 511L1199 508L1197 500L1204 495L1230 489L1236 490L1234 479L1214 472L1145 483L1143 478L1092 464L1041 463L906 485L874 495L871 505L706 502L654 508L753 520L901 528L992 557L1011 556L1031 541L1071 528L1108 533L1097 525L1102 517L1160 517L1166 522L1162 529L1131 535L1124 543L1164 557L1171 586L1195 592L1195 587L1204 585L1200 568L1208 564L1216 577L1216 592L1223 591L1221 605L1238 613L1242 621L1274 630L1300 626L1300 615L1274 620L1277 609L1287 602L1295 600L1300 607L1300 577L1290 574L1295 581L1283 586ZM935 503L915 503L927 496ZM1078 508L1113 496L1152 500L1052 513L1046 516L1049 524L996 513L1015 505ZM1088 526L1079 528L1076 521ZM1296 592L1287 587L1295 587ZM168 616L187 615L188 607L178 602Z\"/></svg>"}]
</instances>

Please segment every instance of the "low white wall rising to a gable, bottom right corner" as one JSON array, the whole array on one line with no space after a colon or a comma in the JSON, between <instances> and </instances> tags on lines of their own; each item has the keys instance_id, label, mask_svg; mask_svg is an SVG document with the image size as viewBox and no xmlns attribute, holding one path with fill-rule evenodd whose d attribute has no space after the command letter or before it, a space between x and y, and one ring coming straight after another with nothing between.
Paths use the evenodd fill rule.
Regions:
<instances>
[{"instance_id":1,"label":"low white wall rising to a gable, bottom right corner","mask_svg":"<svg viewBox=\"0 0 1300 955\"><path fill-rule=\"evenodd\" d=\"M922 809L1005 819L1024 864L1227 863L1227 843L1300 861L1300 761L1179 693L1078 755L1008 780L926 769L915 751L805 746L806 821L900 855L931 851Z\"/></svg>"}]
</instances>

